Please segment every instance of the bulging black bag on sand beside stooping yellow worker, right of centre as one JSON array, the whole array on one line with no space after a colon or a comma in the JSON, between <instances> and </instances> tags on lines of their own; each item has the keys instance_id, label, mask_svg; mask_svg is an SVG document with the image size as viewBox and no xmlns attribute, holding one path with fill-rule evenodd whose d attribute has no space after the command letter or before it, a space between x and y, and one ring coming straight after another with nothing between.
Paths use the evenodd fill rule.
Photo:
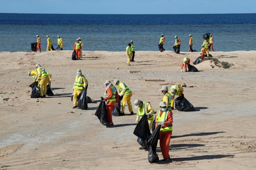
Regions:
<instances>
[{"instance_id":1,"label":"bulging black bag on sand beside stooping yellow worker, right of centre","mask_svg":"<svg viewBox=\"0 0 256 170\"><path fill-rule=\"evenodd\" d=\"M192 112L195 111L194 106L184 97L184 94L182 96L177 97L175 100L175 108L179 111L183 112Z\"/></svg>"}]
</instances>

